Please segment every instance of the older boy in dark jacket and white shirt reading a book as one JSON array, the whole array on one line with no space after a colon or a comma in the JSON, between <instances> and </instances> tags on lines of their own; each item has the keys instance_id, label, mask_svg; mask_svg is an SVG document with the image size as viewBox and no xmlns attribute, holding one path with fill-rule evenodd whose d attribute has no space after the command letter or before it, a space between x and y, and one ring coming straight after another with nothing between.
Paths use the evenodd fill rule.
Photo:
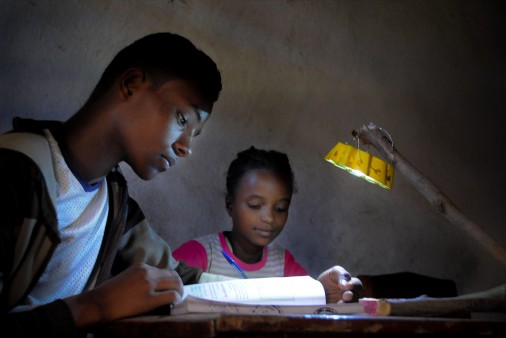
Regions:
<instances>
[{"instance_id":1,"label":"older boy in dark jacket and white shirt reading a book","mask_svg":"<svg viewBox=\"0 0 506 338\"><path fill-rule=\"evenodd\" d=\"M0 136L4 332L83 336L225 278L172 258L118 168L149 180L188 156L220 91L206 54L157 33L120 51L69 120L14 120Z\"/></svg>"}]
</instances>

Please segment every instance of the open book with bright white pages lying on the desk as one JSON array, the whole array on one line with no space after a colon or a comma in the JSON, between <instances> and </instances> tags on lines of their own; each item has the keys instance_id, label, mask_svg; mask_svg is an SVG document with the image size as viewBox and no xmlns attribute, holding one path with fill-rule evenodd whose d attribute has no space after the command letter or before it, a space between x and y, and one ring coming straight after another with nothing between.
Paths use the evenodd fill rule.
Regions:
<instances>
[{"instance_id":1,"label":"open book with bright white pages lying on the desk","mask_svg":"<svg viewBox=\"0 0 506 338\"><path fill-rule=\"evenodd\" d=\"M322 284L310 276L234 279L185 285L183 301L171 315L236 314L362 314L359 303L326 304Z\"/></svg>"}]
</instances>

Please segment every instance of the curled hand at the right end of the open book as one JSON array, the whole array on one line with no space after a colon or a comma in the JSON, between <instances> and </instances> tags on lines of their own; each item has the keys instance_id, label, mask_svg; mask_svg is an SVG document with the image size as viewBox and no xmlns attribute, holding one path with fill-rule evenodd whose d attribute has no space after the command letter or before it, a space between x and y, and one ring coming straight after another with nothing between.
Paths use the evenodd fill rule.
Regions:
<instances>
[{"instance_id":1,"label":"curled hand at the right end of the open book","mask_svg":"<svg viewBox=\"0 0 506 338\"><path fill-rule=\"evenodd\" d=\"M362 282L351 277L350 273L339 265L322 272L318 280L323 285L328 304L358 302L364 293Z\"/></svg>"}]
</instances>

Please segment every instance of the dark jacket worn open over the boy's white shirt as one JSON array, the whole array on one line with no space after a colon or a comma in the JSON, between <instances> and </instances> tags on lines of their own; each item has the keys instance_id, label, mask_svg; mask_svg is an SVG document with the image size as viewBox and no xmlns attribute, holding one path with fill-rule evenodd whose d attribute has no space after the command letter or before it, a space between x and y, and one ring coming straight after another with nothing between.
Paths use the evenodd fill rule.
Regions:
<instances>
[{"instance_id":1,"label":"dark jacket worn open over the boy's white shirt","mask_svg":"<svg viewBox=\"0 0 506 338\"><path fill-rule=\"evenodd\" d=\"M13 122L13 130L0 135L0 327L16 337L82 336L85 333L75 327L62 300L31 311L9 313L30 293L60 243L56 181L43 129L49 129L58 139L61 123L20 118ZM184 284L196 283L202 271L172 258L167 243L152 230L138 204L128 196L119 167L107 175L107 184L109 216L86 289L135 262L175 269Z\"/></svg>"}]
</instances>

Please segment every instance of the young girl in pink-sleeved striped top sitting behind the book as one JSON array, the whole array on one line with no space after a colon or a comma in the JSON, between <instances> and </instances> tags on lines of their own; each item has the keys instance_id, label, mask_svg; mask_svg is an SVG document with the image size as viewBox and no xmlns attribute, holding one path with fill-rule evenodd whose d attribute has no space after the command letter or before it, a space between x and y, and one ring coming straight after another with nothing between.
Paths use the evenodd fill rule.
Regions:
<instances>
[{"instance_id":1,"label":"young girl in pink-sleeved striped top sitting behind the book","mask_svg":"<svg viewBox=\"0 0 506 338\"><path fill-rule=\"evenodd\" d=\"M174 258L231 277L307 275L289 250L273 243L285 227L294 193L287 155L255 147L240 152L230 164L226 187L232 229L190 240Z\"/></svg>"}]
</instances>

